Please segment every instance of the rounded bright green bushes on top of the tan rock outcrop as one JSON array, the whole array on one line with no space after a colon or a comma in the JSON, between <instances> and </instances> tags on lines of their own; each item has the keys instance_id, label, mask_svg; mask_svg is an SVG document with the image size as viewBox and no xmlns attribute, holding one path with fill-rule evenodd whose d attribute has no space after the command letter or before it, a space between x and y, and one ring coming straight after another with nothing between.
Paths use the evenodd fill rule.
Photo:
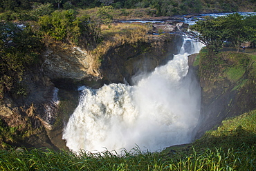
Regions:
<instances>
[{"instance_id":1,"label":"rounded bright green bushes on top of the tan rock outcrop","mask_svg":"<svg viewBox=\"0 0 256 171\"><path fill-rule=\"evenodd\" d=\"M73 45L100 41L100 29L88 16L76 17L75 10L56 10L39 18L39 34Z\"/></svg>"}]
</instances>

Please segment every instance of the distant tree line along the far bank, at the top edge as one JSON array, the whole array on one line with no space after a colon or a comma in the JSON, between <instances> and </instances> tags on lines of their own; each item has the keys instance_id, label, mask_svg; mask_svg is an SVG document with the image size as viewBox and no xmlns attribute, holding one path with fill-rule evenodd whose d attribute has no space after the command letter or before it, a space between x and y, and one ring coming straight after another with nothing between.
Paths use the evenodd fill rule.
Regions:
<instances>
[{"instance_id":1,"label":"distant tree line along the far bank, at the top edge","mask_svg":"<svg viewBox=\"0 0 256 171\"><path fill-rule=\"evenodd\" d=\"M208 9L214 12L237 12L239 8L253 8L256 0L0 0L0 12L23 12L33 10L39 4L51 3L53 8L94 8L113 6L113 8L151 8L156 16L200 13ZM252 6L252 4L254 4Z\"/></svg>"}]
</instances>

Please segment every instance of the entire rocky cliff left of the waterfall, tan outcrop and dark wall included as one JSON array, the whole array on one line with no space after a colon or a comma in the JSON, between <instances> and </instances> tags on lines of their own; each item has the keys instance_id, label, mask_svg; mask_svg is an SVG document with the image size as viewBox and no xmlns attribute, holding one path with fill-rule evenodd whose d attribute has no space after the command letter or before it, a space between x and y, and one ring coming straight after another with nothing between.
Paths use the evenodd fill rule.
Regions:
<instances>
[{"instance_id":1,"label":"entire rocky cliff left of the waterfall, tan outcrop and dark wall included","mask_svg":"<svg viewBox=\"0 0 256 171\"><path fill-rule=\"evenodd\" d=\"M77 86L98 88L122 82L138 72L149 72L179 52L182 37L176 34L148 35L145 41L111 47L96 67L91 52L51 43L39 65L26 72L22 85L26 96L6 94L1 105L0 145L65 148L62 128L78 103Z\"/></svg>"}]
</instances>

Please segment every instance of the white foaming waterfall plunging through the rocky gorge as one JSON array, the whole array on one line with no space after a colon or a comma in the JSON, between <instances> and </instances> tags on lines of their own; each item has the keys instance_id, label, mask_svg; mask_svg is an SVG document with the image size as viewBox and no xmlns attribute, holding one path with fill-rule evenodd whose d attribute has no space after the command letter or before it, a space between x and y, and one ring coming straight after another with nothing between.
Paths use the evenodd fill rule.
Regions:
<instances>
[{"instance_id":1,"label":"white foaming waterfall plunging through the rocky gorge","mask_svg":"<svg viewBox=\"0 0 256 171\"><path fill-rule=\"evenodd\" d=\"M136 145L149 151L190 143L199 121L200 88L188 74L188 54L201 43L185 40L180 54L136 86L112 83L98 90L83 87L63 139L71 150L101 152Z\"/></svg>"}]
</instances>

